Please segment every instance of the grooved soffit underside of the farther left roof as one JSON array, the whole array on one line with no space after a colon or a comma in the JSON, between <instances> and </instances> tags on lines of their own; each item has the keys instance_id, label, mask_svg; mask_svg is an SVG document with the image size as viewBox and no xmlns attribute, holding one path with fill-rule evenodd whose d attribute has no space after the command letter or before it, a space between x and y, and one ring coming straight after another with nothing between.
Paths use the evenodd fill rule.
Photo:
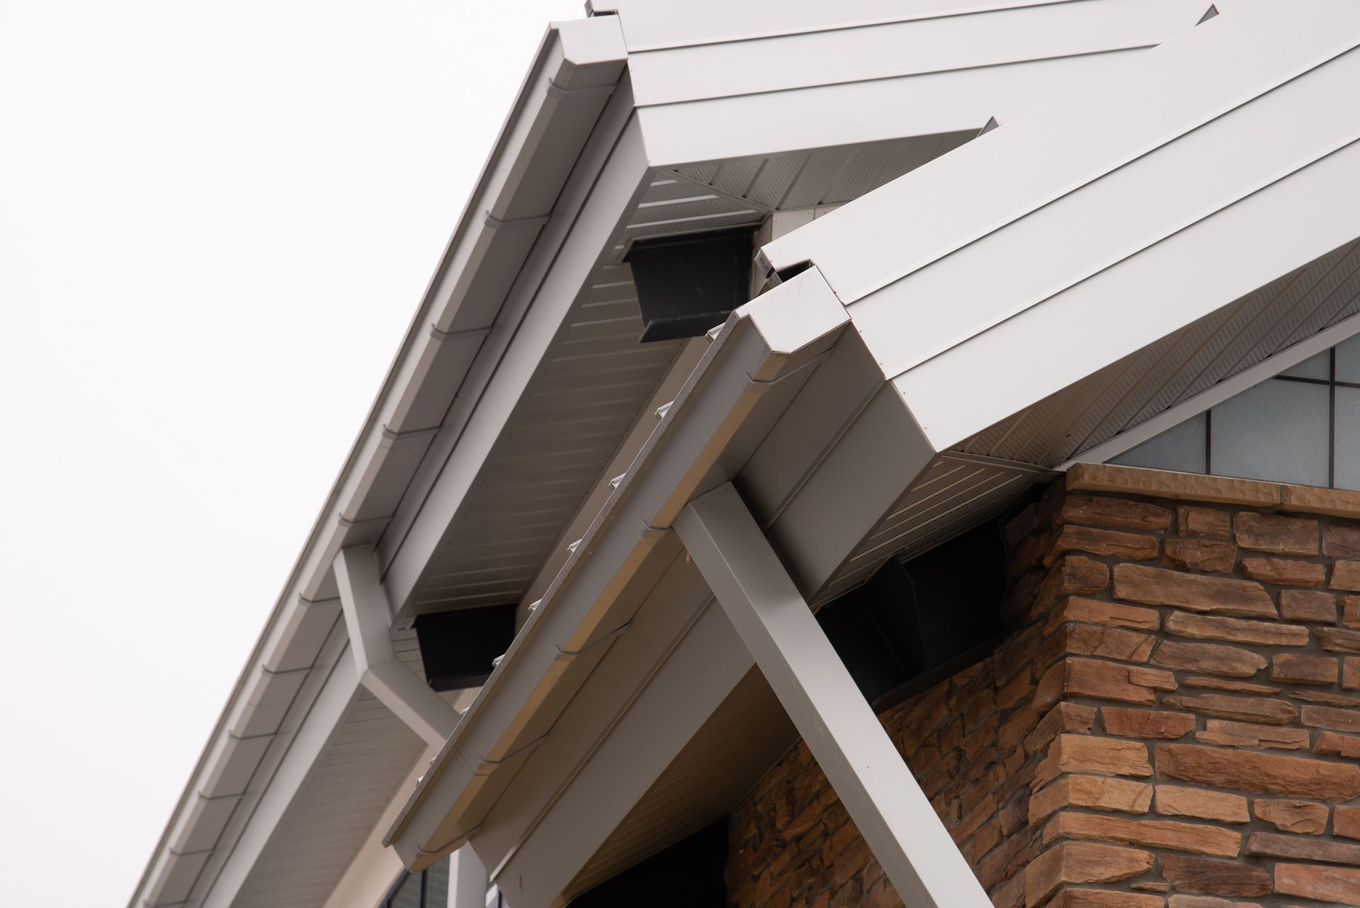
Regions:
<instances>
[{"instance_id":1,"label":"grooved soffit underside of the farther left roof","mask_svg":"<svg viewBox=\"0 0 1360 908\"><path fill-rule=\"evenodd\" d=\"M631 242L758 226L771 209L839 204L972 132L756 156L658 171L596 261L487 465L412 597L412 612L517 602L600 483L684 341L639 344ZM756 198L755 196L759 196ZM793 204L797 203L797 204Z\"/></svg>"}]
</instances>

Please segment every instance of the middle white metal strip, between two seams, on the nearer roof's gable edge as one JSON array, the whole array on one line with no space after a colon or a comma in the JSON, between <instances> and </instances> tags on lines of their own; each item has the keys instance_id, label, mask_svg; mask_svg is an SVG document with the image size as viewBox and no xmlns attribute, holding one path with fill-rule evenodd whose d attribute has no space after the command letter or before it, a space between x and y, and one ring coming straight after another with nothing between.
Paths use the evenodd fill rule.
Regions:
<instances>
[{"instance_id":1,"label":"middle white metal strip, between two seams, on the nearer roof's gable edge","mask_svg":"<svg viewBox=\"0 0 1360 908\"><path fill-rule=\"evenodd\" d=\"M1336 107L1357 82L1352 50L865 296L855 325L898 375L1356 140Z\"/></svg>"}]
</instances>

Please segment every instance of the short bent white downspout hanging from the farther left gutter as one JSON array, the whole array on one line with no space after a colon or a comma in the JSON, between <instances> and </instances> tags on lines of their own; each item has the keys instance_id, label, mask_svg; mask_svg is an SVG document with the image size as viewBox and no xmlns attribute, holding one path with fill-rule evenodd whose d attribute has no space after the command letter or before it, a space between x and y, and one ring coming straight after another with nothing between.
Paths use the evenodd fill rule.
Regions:
<instances>
[{"instance_id":1,"label":"short bent white downspout hanging from the farther left gutter","mask_svg":"<svg viewBox=\"0 0 1360 908\"><path fill-rule=\"evenodd\" d=\"M458 714L397 659L392 648L392 606L378 579L373 549L367 545L340 549L335 575L359 681L426 744L443 746L458 724Z\"/></svg>"}]
</instances>

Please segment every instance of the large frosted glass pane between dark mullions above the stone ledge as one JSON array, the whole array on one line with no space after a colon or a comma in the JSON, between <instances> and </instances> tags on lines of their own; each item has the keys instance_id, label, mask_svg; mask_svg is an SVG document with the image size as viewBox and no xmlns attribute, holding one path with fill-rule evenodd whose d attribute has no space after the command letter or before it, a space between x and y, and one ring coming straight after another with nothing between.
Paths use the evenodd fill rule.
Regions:
<instances>
[{"instance_id":1,"label":"large frosted glass pane between dark mullions above the stone ledge","mask_svg":"<svg viewBox=\"0 0 1360 908\"><path fill-rule=\"evenodd\" d=\"M1327 484L1326 385L1268 381L1213 408L1209 465L1217 476Z\"/></svg>"}]
</instances>

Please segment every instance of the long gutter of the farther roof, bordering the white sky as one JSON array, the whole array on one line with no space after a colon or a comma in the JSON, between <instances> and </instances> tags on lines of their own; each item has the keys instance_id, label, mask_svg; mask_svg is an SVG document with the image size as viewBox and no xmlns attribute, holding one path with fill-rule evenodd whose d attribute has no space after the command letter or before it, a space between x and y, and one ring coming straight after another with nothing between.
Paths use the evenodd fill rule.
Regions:
<instances>
[{"instance_id":1,"label":"long gutter of the farther roof, bordering the white sky","mask_svg":"<svg viewBox=\"0 0 1360 908\"><path fill-rule=\"evenodd\" d=\"M626 57L612 16L548 29L382 390L129 900L131 908L201 898L204 879L211 886L231 859L233 844L226 841L231 828L241 833L256 821L254 803L264 788L254 779L256 771L272 748L290 746L290 741L276 739L280 722L290 711L306 712L307 704L294 703L295 695L340 617L332 563L341 548L371 544L382 531L473 359L499 355L483 351L483 338L514 275L534 251L539 230L624 73ZM540 254L551 257L554 250ZM238 816L242 806L250 811L243 821ZM175 847L186 841L192 851ZM216 854L223 848L226 856Z\"/></svg>"}]
</instances>

